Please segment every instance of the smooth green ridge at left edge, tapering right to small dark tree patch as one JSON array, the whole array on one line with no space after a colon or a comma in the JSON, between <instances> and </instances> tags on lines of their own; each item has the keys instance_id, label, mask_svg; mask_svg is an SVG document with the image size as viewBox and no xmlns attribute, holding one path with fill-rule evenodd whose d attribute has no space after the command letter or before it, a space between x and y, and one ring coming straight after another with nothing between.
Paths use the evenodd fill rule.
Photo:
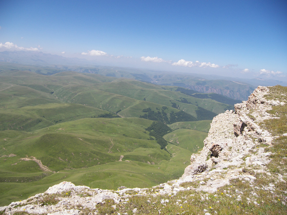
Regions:
<instances>
[{"instance_id":1,"label":"smooth green ridge at left edge, tapering right to small dark tree patch","mask_svg":"<svg viewBox=\"0 0 287 215\"><path fill-rule=\"evenodd\" d=\"M0 126L2 130L17 129L33 131L59 122L77 120L106 114L107 111L80 104L49 103L25 106L11 110L0 109Z\"/></svg>"}]
</instances>

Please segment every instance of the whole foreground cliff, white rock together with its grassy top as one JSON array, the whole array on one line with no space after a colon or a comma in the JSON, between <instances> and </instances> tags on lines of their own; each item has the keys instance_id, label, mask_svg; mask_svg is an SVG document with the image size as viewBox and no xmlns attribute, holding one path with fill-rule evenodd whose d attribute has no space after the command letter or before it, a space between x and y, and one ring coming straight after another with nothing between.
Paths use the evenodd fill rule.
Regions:
<instances>
[{"instance_id":1,"label":"whole foreground cliff, white rock together with its grassy top","mask_svg":"<svg viewBox=\"0 0 287 215\"><path fill-rule=\"evenodd\" d=\"M64 181L44 193L1 207L0 214L200 214L201 211L210 215L236 210L236 214L264 214L270 207L274 208L274 214L284 214L287 173L268 169L275 153L265 150L279 136L272 135L262 124L279 119L267 111L272 106L284 106L286 94L282 94L285 100L266 99L269 94L268 87L259 86L248 101L235 105L235 111L227 110L216 116L203 149L191 156L191 164L178 180L152 188L119 187L115 191ZM281 136L286 137L287 133ZM283 170L286 157L279 156ZM267 182L259 181L258 177L266 178Z\"/></svg>"}]
</instances>

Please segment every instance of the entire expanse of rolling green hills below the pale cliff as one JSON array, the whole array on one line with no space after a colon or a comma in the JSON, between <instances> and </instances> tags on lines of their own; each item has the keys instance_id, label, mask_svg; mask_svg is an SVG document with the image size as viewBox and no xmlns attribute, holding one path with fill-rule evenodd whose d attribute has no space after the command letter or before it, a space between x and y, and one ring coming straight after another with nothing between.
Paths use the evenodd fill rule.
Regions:
<instances>
[{"instance_id":1,"label":"entire expanse of rolling green hills below the pale cliff","mask_svg":"<svg viewBox=\"0 0 287 215\"><path fill-rule=\"evenodd\" d=\"M117 189L179 178L212 117L230 109L175 86L36 68L0 69L1 206L62 181ZM154 120L172 131L148 131Z\"/></svg>"}]
</instances>

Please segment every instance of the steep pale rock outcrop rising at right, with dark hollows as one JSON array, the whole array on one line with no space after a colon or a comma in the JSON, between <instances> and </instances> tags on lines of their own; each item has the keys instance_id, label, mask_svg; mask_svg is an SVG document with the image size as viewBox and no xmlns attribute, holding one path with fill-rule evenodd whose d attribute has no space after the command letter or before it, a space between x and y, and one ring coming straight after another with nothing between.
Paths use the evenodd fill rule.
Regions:
<instances>
[{"instance_id":1,"label":"steep pale rock outcrop rising at right, with dark hollows","mask_svg":"<svg viewBox=\"0 0 287 215\"><path fill-rule=\"evenodd\" d=\"M210 191L229 183L230 179L255 179L242 169L249 165L258 166L258 171L266 171L271 152L264 152L261 143L272 145L274 136L259 124L263 120L276 118L267 113L274 105L284 105L278 100L267 100L267 87L259 86L247 101L234 105L233 110L214 117L204 147L199 154L191 156L191 165L185 168L180 180L193 181L210 178L200 189ZM234 167L234 168L228 168Z\"/></svg>"}]
</instances>

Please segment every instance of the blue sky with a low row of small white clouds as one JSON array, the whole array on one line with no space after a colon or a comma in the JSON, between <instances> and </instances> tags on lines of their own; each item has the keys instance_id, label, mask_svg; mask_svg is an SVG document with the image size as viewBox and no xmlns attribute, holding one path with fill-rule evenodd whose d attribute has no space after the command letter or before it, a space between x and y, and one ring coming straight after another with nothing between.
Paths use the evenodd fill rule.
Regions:
<instances>
[{"instance_id":1,"label":"blue sky with a low row of small white clouds","mask_svg":"<svg viewBox=\"0 0 287 215\"><path fill-rule=\"evenodd\" d=\"M0 51L287 80L287 1L0 1Z\"/></svg>"}]
</instances>

